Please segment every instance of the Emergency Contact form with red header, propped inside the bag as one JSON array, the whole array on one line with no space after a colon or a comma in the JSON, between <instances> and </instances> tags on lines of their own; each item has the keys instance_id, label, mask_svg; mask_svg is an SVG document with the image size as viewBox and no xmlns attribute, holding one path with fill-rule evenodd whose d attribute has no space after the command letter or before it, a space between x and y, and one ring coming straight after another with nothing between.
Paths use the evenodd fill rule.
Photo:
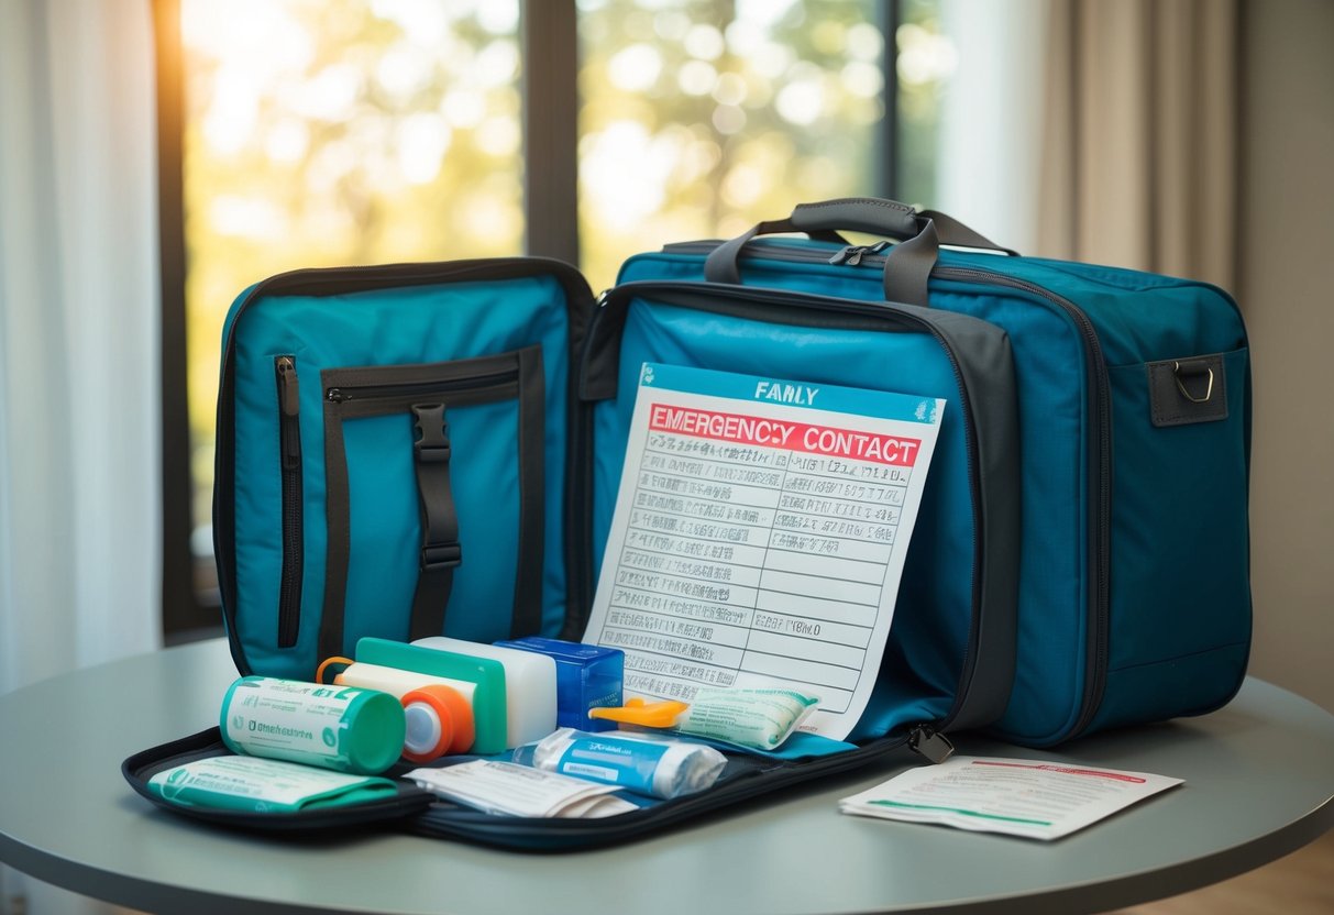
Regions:
<instances>
[{"instance_id":1,"label":"Emergency Contact form with red header, propped inside the bag","mask_svg":"<svg viewBox=\"0 0 1334 915\"><path fill-rule=\"evenodd\" d=\"M944 400L644 363L584 642L626 695L819 699L835 740L875 684Z\"/></svg>"}]
</instances>

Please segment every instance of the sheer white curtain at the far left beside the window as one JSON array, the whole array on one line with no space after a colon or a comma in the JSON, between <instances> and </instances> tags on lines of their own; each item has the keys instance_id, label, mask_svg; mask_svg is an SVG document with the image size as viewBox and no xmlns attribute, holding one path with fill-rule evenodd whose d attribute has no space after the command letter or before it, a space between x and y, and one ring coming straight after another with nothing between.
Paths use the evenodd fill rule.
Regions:
<instances>
[{"instance_id":1,"label":"sheer white curtain at the far left beside the window","mask_svg":"<svg viewBox=\"0 0 1334 915\"><path fill-rule=\"evenodd\" d=\"M149 0L0 3L0 694L160 639L153 112Z\"/></svg>"}]
</instances>

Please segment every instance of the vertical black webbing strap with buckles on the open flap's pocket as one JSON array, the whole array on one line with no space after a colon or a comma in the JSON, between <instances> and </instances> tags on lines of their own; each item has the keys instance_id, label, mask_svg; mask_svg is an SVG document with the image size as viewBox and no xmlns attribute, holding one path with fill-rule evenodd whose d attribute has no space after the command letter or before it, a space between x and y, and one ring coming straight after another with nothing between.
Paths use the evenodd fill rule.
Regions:
<instances>
[{"instance_id":1,"label":"vertical black webbing strap with buckles on the open flap's pocket","mask_svg":"<svg viewBox=\"0 0 1334 915\"><path fill-rule=\"evenodd\" d=\"M450 490L450 436L444 404L414 404L416 441L412 443L422 506L422 571L412 596L408 638L444 632L444 607L454 587L454 570L463 562L459 514Z\"/></svg>"}]
</instances>

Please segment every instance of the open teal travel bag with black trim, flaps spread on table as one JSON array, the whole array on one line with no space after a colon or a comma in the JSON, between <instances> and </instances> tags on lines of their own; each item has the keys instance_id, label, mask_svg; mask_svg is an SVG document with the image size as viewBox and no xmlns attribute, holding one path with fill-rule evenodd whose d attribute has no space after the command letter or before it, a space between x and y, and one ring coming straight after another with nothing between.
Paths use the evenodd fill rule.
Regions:
<instances>
[{"instance_id":1,"label":"open teal travel bag with black trim, flaps spread on table","mask_svg":"<svg viewBox=\"0 0 1334 915\"><path fill-rule=\"evenodd\" d=\"M291 814L147 790L227 752L216 727L132 756L125 778L223 824L383 820L571 850L904 746L943 758L954 731L1046 746L1223 704L1250 632L1235 305L1198 283L940 244L995 248L939 213L839 200L638 255L596 300L574 268L532 257L309 269L245 291L224 331L213 530L227 632L241 674L299 680L367 636L578 642L646 365L943 400L888 639L864 662L875 687L846 740L728 752L712 788L596 820L488 815L407 783ZM794 552L820 543L795 516L767 520ZM732 531L714 534L758 536ZM763 536L754 546L772 546ZM800 562L818 571L818 555ZM706 604L728 600L680 580L686 599L656 606L668 622L708 622ZM627 666L627 686L646 670Z\"/></svg>"}]
</instances>

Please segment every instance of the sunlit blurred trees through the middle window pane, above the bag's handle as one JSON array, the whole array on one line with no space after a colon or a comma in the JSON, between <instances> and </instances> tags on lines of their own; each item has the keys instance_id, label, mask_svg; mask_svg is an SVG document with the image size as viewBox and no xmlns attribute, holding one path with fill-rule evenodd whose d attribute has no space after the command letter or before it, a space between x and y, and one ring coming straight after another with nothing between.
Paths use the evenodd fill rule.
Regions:
<instances>
[{"instance_id":1,"label":"sunlit blurred trees through the middle window pane, above the bag's handle","mask_svg":"<svg viewBox=\"0 0 1334 915\"><path fill-rule=\"evenodd\" d=\"M636 251L882 187L882 4L579 0L579 239Z\"/></svg>"}]
</instances>

